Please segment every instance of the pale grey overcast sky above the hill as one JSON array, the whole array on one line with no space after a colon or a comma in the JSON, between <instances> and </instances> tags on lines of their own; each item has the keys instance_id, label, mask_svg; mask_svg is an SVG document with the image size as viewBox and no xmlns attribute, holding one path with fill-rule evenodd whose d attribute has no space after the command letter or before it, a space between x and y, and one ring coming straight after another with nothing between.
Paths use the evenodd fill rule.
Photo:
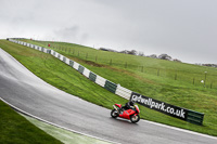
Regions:
<instances>
[{"instance_id":1,"label":"pale grey overcast sky above the hill","mask_svg":"<svg viewBox=\"0 0 217 144\"><path fill-rule=\"evenodd\" d=\"M217 64L217 0L0 0L8 37Z\"/></svg>"}]
</instances>

